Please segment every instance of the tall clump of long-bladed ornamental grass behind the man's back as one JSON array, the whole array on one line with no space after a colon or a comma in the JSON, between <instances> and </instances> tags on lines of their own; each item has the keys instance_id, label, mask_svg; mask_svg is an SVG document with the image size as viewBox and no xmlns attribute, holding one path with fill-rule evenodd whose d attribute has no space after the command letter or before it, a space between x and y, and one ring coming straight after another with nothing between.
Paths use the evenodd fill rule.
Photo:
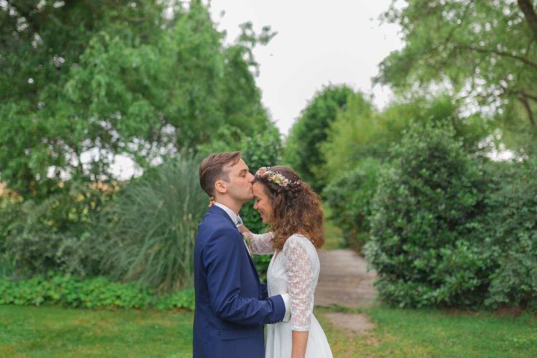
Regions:
<instances>
[{"instance_id":1,"label":"tall clump of long-bladed ornamental grass behind the man's back","mask_svg":"<svg viewBox=\"0 0 537 358\"><path fill-rule=\"evenodd\" d=\"M207 209L198 156L182 154L128 185L104 213L103 272L158 292L192 284L194 239Z\"/></svg>"}]
</instances>

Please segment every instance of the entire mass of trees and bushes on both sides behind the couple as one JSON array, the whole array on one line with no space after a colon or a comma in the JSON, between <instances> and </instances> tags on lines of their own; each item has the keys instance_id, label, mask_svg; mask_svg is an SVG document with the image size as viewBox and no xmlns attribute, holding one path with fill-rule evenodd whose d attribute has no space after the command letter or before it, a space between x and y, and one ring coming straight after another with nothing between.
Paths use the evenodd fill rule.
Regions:
<instances>
[{"instance_id":1,"label":"entire mass of trees and bushes on both sides behind the couple","mask_svg":"<svg viewBox=\"0 0 537 358\"><path fill-rule=\"evenodd\" d=\"M253 76L270 28L225 46L198 1L8 1L0 16L0 274L187 287L207 204L195 169L241 149L323 194L386 302L537 307L532 2L393 6L406 45L375 81L396 99L325 87L283 149ZM513 160L490 159L502 150ZM114 180L119 154L143 175Z\"/></svg>"}]
</instances>

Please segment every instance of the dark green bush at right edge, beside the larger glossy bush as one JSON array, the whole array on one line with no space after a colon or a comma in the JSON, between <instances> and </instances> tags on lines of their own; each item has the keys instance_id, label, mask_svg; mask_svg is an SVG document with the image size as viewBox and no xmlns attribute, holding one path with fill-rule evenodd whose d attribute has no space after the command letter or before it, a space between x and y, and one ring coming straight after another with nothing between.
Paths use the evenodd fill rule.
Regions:
<instances>
[{"instance_id":1,"label":"dark green bush at right edge, beside the larger glossy bush","mask_svg":"<svg viewBox=\"0 0 537 358\"><path fill-rule=\"evenodd\" d=\"M537 159L491 163L489 172L499 189L490 196L491 210L483 221L497 263L485 303L537 311Z\"/></svg>"}]
</instances>

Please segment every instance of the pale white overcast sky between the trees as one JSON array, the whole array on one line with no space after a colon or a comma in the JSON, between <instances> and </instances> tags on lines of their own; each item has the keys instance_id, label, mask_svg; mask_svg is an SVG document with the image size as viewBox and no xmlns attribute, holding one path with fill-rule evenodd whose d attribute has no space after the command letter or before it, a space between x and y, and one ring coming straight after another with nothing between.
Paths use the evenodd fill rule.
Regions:
<instances>
[{"instance_id":1,"label":"pale white overcast sky between the trees","mask_svg":"<svg viewBox=\"0 0 537 358\"><path fill-rule=\"evenodd\" d=\"M240 34L238 25L251 21L256 32L265 25L278 34L256 48L260 63L257 85L263 104L283 134L314 96L329 83L347 83L373 93L382 108L390 91L371 77L391 51L402 47L399 27L380 24L391 0L212 0L213 20L226 30L228 42ZM221 13L224 15L221 17Z\"/></svg>"}]
</instances>

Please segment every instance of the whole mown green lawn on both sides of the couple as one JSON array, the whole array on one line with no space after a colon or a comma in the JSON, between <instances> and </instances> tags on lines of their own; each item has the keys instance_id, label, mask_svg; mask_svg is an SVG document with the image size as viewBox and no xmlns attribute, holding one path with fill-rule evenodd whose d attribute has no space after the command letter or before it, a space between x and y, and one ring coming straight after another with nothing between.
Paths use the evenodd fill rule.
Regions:
<instances>
[{"instance_id":1,"label":"whole mown green lawn on both sides of the couple","mask_svg":"<svg viewBox=\"0 0 537 358\"><path fill-rule=\"evenodd\" d=\"M364 310L377 327L340 330L315 314L334 357L537 357L537 320L437 310ZM190 357L191 312L0 306L0 357Z\"/></svg>"}]
</instances>

